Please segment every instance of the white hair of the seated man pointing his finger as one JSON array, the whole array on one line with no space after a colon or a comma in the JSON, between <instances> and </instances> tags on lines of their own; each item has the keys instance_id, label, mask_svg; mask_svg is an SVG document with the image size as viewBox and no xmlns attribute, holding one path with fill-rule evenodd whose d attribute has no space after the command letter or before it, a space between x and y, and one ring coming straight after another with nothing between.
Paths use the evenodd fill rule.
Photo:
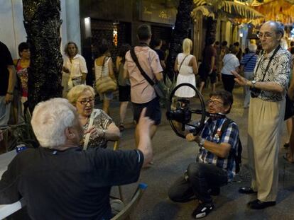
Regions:
<instances>
[{"instance_id":1,"label":"white hair of the seated man pointing his finger","mask_svg":"<svg viewBox=\"0 0 294 220\"><path fill-rule=\"evenodd\" d=\"M40 146L54 148L65 144L65 129L75 124L76 110L67 99L53 98L38 103L31 125Z\"/></svg>"}]
</instances>

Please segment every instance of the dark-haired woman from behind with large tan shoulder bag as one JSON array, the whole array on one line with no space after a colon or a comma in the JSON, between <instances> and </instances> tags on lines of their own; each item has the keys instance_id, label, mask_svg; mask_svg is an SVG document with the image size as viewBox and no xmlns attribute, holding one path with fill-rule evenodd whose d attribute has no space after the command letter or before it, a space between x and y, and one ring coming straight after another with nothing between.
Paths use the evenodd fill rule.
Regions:
<instances>
[{"instance_id":1,"label":"dark-haired woman from behind with large tan shoulder bag","mask_svg":"<svg viewBox=\"0 0 294 220\"><path fill-rule=\"evenodd\" d=\"M94 61L95 87L103 100L102 110L109 115L110 101L113 99L113 91L116 91L117 84L114 76L114 64L110 57L108 46L104 43L99 46L100 56Z\"/></svg>"}]
</instances>

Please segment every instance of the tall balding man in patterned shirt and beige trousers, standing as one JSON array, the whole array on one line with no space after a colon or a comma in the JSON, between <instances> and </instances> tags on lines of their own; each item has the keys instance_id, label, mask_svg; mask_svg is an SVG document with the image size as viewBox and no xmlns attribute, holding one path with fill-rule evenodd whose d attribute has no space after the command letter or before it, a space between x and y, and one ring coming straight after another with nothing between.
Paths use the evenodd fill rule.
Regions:
<instances>
[{"instance_id":1,"label":"tall balding man in patterned shirt and beige trousers, standing","mask_svg":"<svg viewBox=\"0 0 294 220\"><path fill-rule=\"evenodd\" d=\"M264 209L276 204L278 149L290 74L290 53L280 47L283 35L281 23L263 23L258 33L263 52L256 62L253 80L232 71L237 83L251 87L248 150L252 180L251 187L239 189L246 194L257 192L257 199L249 202L251 209Z\"/></svg>"}]
</instances>

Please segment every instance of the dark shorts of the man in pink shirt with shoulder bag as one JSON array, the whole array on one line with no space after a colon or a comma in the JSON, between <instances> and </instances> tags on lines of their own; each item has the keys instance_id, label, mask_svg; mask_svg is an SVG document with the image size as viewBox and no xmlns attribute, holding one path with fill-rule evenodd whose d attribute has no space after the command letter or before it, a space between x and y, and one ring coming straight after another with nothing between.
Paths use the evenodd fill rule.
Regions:
<instances>
[{"instance_id":1,"label":"dark shorts of the man in pink shirt with shoulder bag","mask_svg":"<svg viewBox=\"0 0 294 220\"><path fill-rule=\"evenodd\" d=\"M159 104L159 98L153 98L148 103L138 104L133 103L134 120L138 123L141 111L147 107L146 116L150 117L154 121L154 125L159 125L161 122L161 110Z\"/></svg>"}]
</instances>

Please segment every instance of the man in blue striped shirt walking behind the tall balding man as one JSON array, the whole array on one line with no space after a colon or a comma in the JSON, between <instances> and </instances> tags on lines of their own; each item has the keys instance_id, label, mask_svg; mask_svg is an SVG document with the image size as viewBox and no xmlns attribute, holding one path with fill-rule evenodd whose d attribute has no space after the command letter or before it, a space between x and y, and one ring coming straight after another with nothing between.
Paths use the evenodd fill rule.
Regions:
<instances>
[{"instance_id":1,"label":"man in blue striped shirt walking behind the tall balding man","mask_svg":"<svg viewBox=\"0 0 294 220\"><path fill-rule=\"evenodd\" d=\"M252 80L252 76L254 74L254 68L256 64L257 54L256 49L257 46L249 43L248 45L249 53L245 54L241 59L241 72L244 72L244 77L249 81ZM244 108L249 108L250 103L250 90L249 86L244 86Z\"/></svg>"}]
</instances>

